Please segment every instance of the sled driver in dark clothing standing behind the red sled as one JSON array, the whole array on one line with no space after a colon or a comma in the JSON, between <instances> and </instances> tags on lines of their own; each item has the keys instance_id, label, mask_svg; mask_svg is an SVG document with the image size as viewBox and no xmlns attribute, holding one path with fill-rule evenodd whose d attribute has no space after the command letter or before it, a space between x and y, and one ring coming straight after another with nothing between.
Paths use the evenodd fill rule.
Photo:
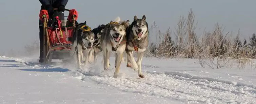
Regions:
<instances>
[{"instance_id":1,"label":"sled driver in dark clothing standing behind the red sled","mask_svg":"<svg viewBox=\"0 0 256 104\"><path fill-rule=\"evenodd\" d=\"M54 20L53 15L59 16L60 20L64 20L64 10L68 0L39 0L42 4L41 10L47 10L50 19ZM58 10L54 11L54 8ZM49 21L49 23L51 23ZM43 23L39 20L39 39L40 39L40 56L39 62L42 63L43 59Z\"/></svg>"}]
</instances>

